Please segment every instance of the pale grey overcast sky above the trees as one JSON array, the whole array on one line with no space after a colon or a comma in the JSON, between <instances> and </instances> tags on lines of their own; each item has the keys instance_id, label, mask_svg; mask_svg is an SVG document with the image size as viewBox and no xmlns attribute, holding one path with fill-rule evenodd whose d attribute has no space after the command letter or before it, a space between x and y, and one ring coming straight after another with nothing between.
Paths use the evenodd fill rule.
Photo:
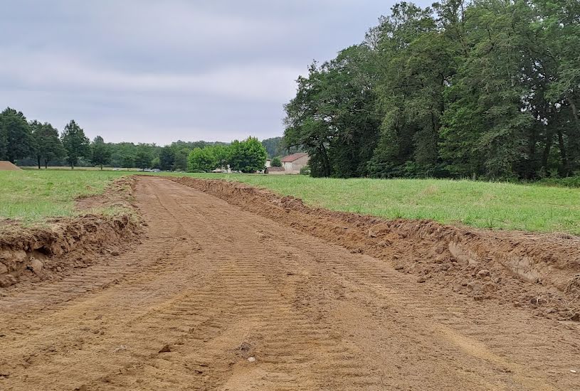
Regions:
<instances>
[{"instance_id":1,"label":"pale grey overcast sky above the trees","mask_svg":"<svg viewBox=\"0 0 580 391\"><path fill-rule=\"evenodd\" d=\"M113 142L281 136L297 76L394 2L2 1L0 105Z\"/></svg>"}]
</instances>

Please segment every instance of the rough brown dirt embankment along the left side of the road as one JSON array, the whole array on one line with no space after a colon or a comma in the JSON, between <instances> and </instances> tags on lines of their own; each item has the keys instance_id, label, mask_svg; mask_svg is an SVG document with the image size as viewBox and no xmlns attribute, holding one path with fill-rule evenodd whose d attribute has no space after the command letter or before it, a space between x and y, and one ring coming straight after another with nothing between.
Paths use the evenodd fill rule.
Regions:
<instances>
[{"instance_id":1,"label":"rough brown dirt embankment along the left side of the road","mask_svg":"<svg viewBox=\"0 0 580 391\"><path fill-rule=\"evenodd\" d=\"M134 210L135 178L120 178L102 195L78 200L80 210L120 207ZM18 282L59 278L127 250L142 230L134 213L54 218L46 227L9 225L0 230L0 288Z\"/></svg>"}]
</instances>

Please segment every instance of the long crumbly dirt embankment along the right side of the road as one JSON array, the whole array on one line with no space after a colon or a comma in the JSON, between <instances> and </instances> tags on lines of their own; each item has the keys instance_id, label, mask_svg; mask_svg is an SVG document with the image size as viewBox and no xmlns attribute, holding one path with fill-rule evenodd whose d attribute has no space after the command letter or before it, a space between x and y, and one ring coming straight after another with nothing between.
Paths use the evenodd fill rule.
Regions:
<instances>
[{"instance_id":1,"label":"long crumbly dirt embankment along the right side of the road","mask_svg":"<svg viewBox=\"0 0 580 391\"><path fill-rule=\"evenodd\" d=\"M477 230L430 220L382 220L310 208L243 183L171 178L244 210L391 262L417 283L448 286L475 300L497 300L537 315L579 321L580 238Z\"/></svg>"}]
</instances>

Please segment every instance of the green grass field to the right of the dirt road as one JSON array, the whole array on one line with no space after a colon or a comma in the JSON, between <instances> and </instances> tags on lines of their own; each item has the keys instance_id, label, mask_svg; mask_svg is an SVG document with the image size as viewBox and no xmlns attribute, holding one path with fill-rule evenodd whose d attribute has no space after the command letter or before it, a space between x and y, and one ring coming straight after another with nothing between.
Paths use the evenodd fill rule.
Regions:
<instances>
[{"instance_id":1,"label":"green grass field to the right of the dirt road","mask_svg":"<svg viewBox=\"0 0 580 391\"><path fill-rule=\"evenodd\" d=\"M580 189L443 179L334 179L188 174L226 178L302 198L308 205L445 224L580 235Z\"/></svg>"}]
</instances>

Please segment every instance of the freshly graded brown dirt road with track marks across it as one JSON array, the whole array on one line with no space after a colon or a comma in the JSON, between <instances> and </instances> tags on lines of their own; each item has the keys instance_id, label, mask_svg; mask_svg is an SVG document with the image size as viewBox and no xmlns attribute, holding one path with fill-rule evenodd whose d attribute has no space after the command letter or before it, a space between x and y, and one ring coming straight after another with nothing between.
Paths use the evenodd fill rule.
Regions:
<instances>
[{"instance_id":1,"label":"freshly graded brown dirt road with track marks across it","mask_svg":"<svg viewBox=\"0 0 580 391\"><path fill-rule=\"evenodd\" d=\"M164 178L134 252L0 297L0 390L579 390L577 323ZM573 373L576 370L579 373Z\"/></svg>"}]
</instances>

